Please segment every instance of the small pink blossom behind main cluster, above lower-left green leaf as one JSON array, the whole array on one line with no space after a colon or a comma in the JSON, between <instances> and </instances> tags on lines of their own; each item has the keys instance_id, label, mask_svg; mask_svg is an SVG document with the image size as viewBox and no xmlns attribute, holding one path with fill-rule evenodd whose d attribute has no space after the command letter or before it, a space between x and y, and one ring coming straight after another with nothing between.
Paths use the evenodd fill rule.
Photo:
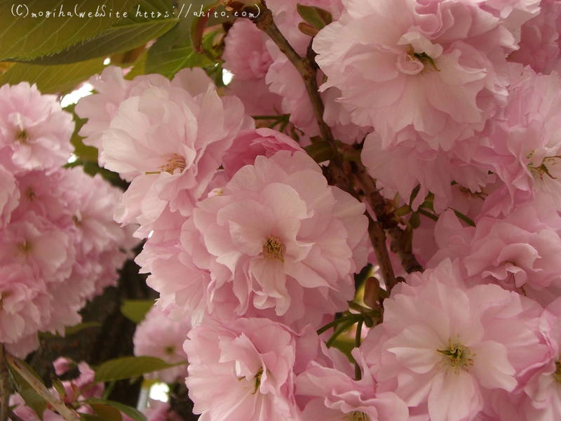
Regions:
<instances>
[{"instance_id":1,"label":"small pink blossom behind main cluster, above lower-left green leaf","mask_svg":"<svg viewBox=\"0 0 561 421\"><path fill-rule=\"evenodd\" d=\"M152 307L135 330L133 343L137 356L156 356L168 364L182 363L184 366L166 368L151 374L166 383L173 383L187 374L187 355L183 342L191 329L189 321L174 321L158 307Z\"/></svg>"}]
</instances>

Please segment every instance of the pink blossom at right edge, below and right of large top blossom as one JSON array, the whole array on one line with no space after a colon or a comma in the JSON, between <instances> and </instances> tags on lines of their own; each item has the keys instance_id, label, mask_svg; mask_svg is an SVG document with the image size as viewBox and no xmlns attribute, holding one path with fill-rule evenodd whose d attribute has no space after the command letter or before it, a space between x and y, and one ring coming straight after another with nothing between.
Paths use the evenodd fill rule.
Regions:
<instances>
[{"instance_id":1,"label":"pink blossom at right edge, below and right of large top blossom","mask_svg":"<svg viewBox=\"0 0 561 421\"><path fill-rule=\"evenodd\" d=\"M503 180L511 207L541 194L551 196L559 208L560 76L536 74L526 67L509 91L508 105L490 122L486 146L482 145L474 159L487 164Z\"/></svg>"}]
</instances>

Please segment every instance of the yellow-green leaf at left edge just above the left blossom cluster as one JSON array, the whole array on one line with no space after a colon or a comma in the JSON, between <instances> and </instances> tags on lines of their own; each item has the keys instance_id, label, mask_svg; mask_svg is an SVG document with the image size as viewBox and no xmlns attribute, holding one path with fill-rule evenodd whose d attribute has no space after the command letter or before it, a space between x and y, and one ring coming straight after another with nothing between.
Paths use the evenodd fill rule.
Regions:
<instances>
[{"instance_id":1,"label":"yellow-green leaf at left edge just above the left blossom cluster","mask_svg":"<svg viewBox=\"0 0 561 421\"><path fill-rule=\"evenodd\" d=\"M29 65L15 63L6 73L0 75L0 86L22 81L36 83L41 93L67 93L104 68L103 60L95 58L72 65Z\"/></svg>"}]
</instances>

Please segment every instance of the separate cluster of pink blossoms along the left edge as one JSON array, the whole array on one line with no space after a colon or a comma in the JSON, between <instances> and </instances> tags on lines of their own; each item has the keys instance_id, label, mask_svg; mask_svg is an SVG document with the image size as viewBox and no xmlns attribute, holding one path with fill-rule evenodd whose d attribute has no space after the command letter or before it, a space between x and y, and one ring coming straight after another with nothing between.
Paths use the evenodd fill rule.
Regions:
<instances>
[{"instance_id":1,"label":"separate cluster of pink blossoms along the left edge","mask_svg":"<svg viewBox=\"0 0 561 421\"><path fill-rule=\"evenodd\" d=\"M25 356L79 323L135 240L112 220L119 189L62 168L74 122L54 95L4 85L0 109L0 343Z\"/></svg>"}]
</instances>

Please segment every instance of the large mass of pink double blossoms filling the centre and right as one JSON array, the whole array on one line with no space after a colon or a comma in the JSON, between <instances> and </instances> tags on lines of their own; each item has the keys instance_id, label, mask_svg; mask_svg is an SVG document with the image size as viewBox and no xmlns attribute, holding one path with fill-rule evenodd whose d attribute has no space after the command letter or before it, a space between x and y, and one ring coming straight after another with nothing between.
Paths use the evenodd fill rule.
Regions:
<instances>
[{"instance_id":1,"label":"large mass of pink double blossoms filling the centre and right","mask_svg":"<svg viewBox=\"0 0 561 421\"><path fill-rule=\"evenodd\" d=\"M158 307L189 323L195 412L561 418L561 2L299 3L332 16L313 39L296 1L266 6L296 53L313 48L323 120L362 150L426 268L394 267L404 282L379 294L362 337L359 322L352 364L322 326L348 312L354 274L386 264L368 242L371 203L330 185L302 149L320 128L301 75L264 32L247 20L229 30L226 95L202 69L168 81L109 67L76 107L100 163L130 180L116 218L147 238L137 262ZM299 142L250 118L280 113Z\"/></svg>"}]
</instances>

